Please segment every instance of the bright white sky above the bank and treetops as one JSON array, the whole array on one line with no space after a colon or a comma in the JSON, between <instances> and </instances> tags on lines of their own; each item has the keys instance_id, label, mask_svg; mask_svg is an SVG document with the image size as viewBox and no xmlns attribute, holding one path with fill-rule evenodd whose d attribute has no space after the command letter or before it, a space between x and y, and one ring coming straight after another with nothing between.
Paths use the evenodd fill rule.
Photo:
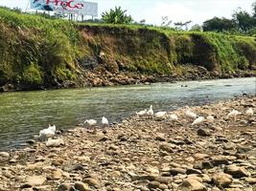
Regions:
<instances>
[{"instance_id":1,"label":"bright white sky above the bank and treetops","mask_svg":"<svg viewBox=\"0 0 256 191\"><path fill-rule=\"evenodd\" d=\"M30 0L0 0L0 6L29 8ZM147 24L160 25L162 16L174 22L192 20L202 24L214 16L230 18L237 8L251 12L256 0L88 0L99 4L99 17L103 11L115 6L128 10L135 21L146 19Z\"/></svg>"}]
</instances>

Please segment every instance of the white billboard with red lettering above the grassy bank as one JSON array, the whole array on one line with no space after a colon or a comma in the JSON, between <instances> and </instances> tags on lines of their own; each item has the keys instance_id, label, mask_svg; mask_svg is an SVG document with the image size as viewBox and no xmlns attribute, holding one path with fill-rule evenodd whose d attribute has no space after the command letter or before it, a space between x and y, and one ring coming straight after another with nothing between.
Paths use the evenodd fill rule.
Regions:
<instances>
[{"instance_id":1,"label":"white billboard with red lettering above the grassy bank","mask_svg":"<svg viewBox=\"0 0 256 191\"><path fill-rule=\"evenodd\" d=\"M98 16L98 4L82 0L31 0L31 9Z\"/></svg>"}]
</instances>

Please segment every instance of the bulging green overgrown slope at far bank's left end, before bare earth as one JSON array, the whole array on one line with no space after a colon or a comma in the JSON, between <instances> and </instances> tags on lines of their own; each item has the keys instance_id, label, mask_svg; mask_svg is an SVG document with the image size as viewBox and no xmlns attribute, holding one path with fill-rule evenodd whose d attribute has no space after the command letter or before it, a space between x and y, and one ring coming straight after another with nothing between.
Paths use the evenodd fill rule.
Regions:
<instances>
[{"instance_id":1,"label":"bulging green overgrown slope at far bank's left end, before bare earth","mask_svg":"<svg viewBox=\"0 0 256 191\"><path fill-rule=\"evenodd\" d=\"M0 85L47 86L75 78L79 38L74 23L0 8Z\"/></svg>"}]
</instances>

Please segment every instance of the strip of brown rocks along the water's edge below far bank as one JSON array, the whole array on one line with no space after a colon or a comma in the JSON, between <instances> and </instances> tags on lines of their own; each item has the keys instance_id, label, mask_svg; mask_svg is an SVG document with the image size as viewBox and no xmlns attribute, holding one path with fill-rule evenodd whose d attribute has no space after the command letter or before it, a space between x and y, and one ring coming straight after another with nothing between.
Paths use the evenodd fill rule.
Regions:
<instances>
[{"instance_id":1,"label":"strip of brown rocks along the water's edge below far bank","mask_svg":"<svg viewBox=\"0 0 256 191\"><path fill-rule=\"evenodd\" d=\"M234 77L253 77L256 72L252 71L237 71L232 74L221 74L216 71L209 72L204 67L200 66L182 66L181 71L174 72L174 74L140 74L118 71L111 73L98 66L95 70L81 69L77 81L64 80L62 82L56 81L52 84L45 84L35 88L30 85L7 83L0 86L0 93L15 92L15 91L32 91L32 90L48 90L48 89L67 89L67 88L84 88L84 87L105 87L118 85L132 85L132 84L150 84L157 82L176 82L176 81L191 81L191 80L207 80L207 79L221 79Z\"/></svg>"}]
</instances>

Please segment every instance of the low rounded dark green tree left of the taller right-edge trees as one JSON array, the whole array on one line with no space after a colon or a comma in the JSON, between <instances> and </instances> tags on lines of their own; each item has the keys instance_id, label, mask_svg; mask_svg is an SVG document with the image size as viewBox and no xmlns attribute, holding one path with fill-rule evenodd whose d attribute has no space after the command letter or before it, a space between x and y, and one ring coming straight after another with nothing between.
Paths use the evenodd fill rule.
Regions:
<instances>
[{"instance_id":1,"label":"low rounded dark green tree left of the taller right-edge trees","mask_svg":"<svg viewBox=\"0 0 256 191\"><path fill-rule=\"evenodd\" d=\"M227 18L214 17L203 22L204 32L224 32L236 29L236 22Z\"/></svg>"}]
</instances>

